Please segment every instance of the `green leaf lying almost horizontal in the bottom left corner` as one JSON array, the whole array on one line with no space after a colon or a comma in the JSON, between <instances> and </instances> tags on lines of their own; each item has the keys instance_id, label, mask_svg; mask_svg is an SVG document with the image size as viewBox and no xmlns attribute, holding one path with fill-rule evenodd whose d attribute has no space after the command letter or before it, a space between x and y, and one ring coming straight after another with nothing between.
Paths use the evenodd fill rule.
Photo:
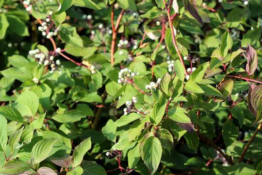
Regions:
<instances>
[{"instance_id":1,"label":"green leaf lying almost horizontal in the bottom left corner","mask_svg":"<svg viewBox=\"0 0 262 175\"><path fill-rule=\"evenodd\" d=\"M6 175L16 175L16 174L24 173L29 169L30 169L30 164L19 159L13 159L13 160L8 160L7 162L5 162L0 166L0 173Z\"/></svg>"}]
</instances>

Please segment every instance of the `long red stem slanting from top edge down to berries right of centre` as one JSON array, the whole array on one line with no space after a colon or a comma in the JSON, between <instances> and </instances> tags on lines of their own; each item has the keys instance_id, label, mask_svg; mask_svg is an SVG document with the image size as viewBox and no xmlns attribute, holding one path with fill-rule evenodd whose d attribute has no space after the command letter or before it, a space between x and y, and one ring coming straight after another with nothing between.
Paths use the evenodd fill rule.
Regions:
<instances>
[{"instance_id":1,"label":"long red stem slanting from top edge down to berries right of centre","mask_svg":"<svg viewBox=\"0 0 262 175\"><path fill-rule=\"evenodd\" d=\"M163 2L164 2L164 5L165 5L165 9L167 10L168 22L169 22L169 27L170 27L171 35L172 35L172 42L173 42L173 44L174 44L174 47L175 47L176 52L177 52L178 55L179 55L180 62L181 62L181 64L183 65L185 75L187 75L186 67L185 67L185 64L184 64L182 55L181 55L181 53L180 53L180 51L179 51L179 48L178 48L178 45L177 45L177 41L176 41L174 29L173 29L173 22L172 22L172 20L171 20L171 15L170 15L170 9L171 9L173 0L170 1L169 7L167 7L167 4L166 4L165 0L163 0Z\"/></svg>"}]
</instances>

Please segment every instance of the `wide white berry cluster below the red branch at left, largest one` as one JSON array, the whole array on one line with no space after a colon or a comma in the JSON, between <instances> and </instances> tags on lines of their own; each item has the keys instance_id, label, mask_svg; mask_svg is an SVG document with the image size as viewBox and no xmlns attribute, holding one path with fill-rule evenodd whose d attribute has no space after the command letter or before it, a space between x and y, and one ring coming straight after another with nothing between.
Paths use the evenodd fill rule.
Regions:
<instances>
[{"instance_id":1,"label":"wide white berry cluster below the red branch at left, largest one","mask_svg":"<svg viewBox=\"0 0 262 175\"><path fill-rule=\"evenodd\" d=\"M59 49L60 48L57 48L56 51L60 52L61 49L60 50ZM59 70L60 68L63 68L63 66L61 65L61 61L59 59L54 61L55 54L53 55L46 54L46 53L41 52L39 49L29 51L29 55L34 57L39 65L43 64L44 66L50 66L51 68L50 73L53 73L55 70ZM62 73L61 69L59 73Z\"/></svg>"}]
</instances>

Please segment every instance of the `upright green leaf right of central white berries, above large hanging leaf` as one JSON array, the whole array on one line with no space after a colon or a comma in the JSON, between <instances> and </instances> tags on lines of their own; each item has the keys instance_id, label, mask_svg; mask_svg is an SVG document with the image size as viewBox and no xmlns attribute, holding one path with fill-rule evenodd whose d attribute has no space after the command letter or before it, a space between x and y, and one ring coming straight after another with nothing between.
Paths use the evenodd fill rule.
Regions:
<instances>
[{"instance_id":1,"label":"upright green leaf right of central white berries, above large hanging leaf","mask_svg":"<svg viewBox=\"0 0 262 175\"><path fill-rule=\"evenodd\" d=\"M164 98L164 95L162 95L162 97L160 98L159 102L157 102L153 108L151 109L150 113L149 113L149 119L150 122L154 125L158 125L164 115L165 112L165 106L166 106L166 99Z\"/></svg>"}]
</instances>

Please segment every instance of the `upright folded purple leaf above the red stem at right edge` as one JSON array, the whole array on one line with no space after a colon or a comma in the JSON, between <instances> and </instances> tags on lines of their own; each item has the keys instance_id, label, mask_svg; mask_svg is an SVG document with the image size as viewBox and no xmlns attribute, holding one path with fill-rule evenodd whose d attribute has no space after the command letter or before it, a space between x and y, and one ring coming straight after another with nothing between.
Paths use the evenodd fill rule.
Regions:
<instances>
[{"instance_id":1,"label":"upright folded purple leaf above the red stem at right edge","mask_svg":"<svg viewBox=\"0 0 262 175\"><path fill-rule=\"evenodd\" d=\"M246 72L248 75L252 75L258 67L258 55L256 50L250 45L247 45L246 48L246 59Z\"/></svg>"}]
</instances>

